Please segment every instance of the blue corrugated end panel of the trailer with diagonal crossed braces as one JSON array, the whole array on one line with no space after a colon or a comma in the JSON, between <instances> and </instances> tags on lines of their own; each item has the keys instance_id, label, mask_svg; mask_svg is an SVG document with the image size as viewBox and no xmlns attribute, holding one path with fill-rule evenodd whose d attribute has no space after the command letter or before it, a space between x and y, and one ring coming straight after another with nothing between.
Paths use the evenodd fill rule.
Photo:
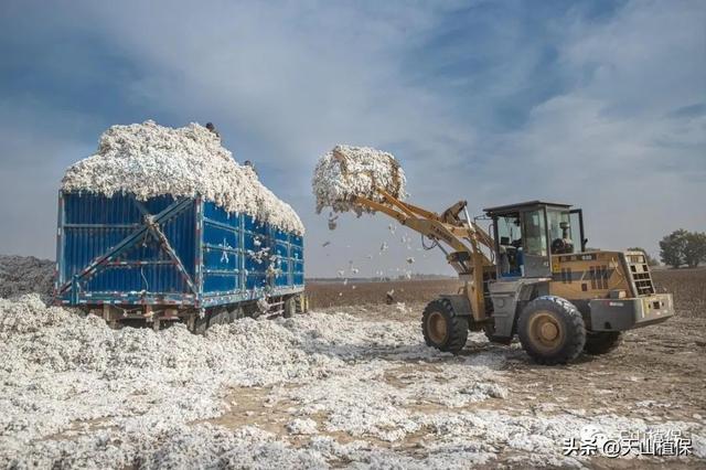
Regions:
<instances>
[{"instance_id":1,"label":"blue corrugated end panel of the trailer with diagonal crossed braces","mask_svg":"<svg viewBox=\"0 0 706 470\"><path fill-rule=\"evenodd\" d=\"M193 200L61 194L57 297L72 305L194 298L194 222Z\"/></svg>"}]
</instances>

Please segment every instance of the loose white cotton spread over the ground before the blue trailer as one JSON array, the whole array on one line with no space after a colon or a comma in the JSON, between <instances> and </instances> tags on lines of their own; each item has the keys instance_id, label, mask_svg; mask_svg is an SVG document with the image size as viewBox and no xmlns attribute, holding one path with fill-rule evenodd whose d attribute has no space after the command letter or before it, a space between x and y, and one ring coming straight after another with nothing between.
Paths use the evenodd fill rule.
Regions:
<instances>
[{"instance_id":1,"label":"loose white cotton spread over the ground before the blue trailer","mask_svg":"<svg viewBox=\"0 0 706 470\"><path fill-rule=\"evenodd\" d=\"M368 308L195 335L111 330L36 295L0 299L11 359L0 364L0 468L567 468L590 463L560 446L586 426L619 436L659 425L706 456L694 420L517 408L507 371L521 350L471 332L474 351L451 356L424 344L403 305L396 319Z\"/></svg>"}]
</instances>

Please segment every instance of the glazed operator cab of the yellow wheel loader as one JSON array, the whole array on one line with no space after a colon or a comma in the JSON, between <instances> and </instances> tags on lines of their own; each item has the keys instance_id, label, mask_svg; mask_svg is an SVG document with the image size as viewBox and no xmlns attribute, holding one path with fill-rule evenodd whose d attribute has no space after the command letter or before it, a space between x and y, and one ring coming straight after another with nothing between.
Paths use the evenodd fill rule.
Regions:
<instances>
[{"instance_id":1,"label":"glazed operator cab of the yellow wheel loader","mask_svg":"<svg viewBox=\"0 0 706 470\"><path fill-rule=\"evenodd\" d=\"M585 249L580 209L542 201L484 209L493 220L499 278L548 277L552 256Z\"/></svg>"}]
</instances>

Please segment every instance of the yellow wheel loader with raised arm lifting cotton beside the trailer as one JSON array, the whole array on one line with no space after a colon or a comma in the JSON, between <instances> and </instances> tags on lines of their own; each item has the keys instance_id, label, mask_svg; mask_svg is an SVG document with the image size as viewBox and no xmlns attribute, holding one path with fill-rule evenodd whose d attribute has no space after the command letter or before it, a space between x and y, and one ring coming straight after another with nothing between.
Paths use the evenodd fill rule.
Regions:
<instances>
[{"instance_id":1,"label":"yellow wheel loader with raised arm lifting cotton beside the trailer","mask_svg":"<svg viewBox=\"0 0 706 470\"><path fill-rule=\"evenodd\" d=\"M674 314L672 295L655 291L644 253L586 247L580 209L543 201L488 207L484 231L466 201L438 214L377 192L376 200L353 202L419 232L424 247L440 248L464 281L424 310L430 346L458 353L469 330L484 331L502 344L518 337L541 364L564 364L582 352L605 354L624 331Z\"/></svg>"}]
</instances>

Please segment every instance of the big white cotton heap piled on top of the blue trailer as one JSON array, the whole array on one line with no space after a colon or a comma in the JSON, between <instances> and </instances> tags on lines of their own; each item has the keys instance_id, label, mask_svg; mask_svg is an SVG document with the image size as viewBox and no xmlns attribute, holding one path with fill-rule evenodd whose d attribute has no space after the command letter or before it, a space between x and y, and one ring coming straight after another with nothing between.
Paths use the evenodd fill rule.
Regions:
<instances>
[{"instance_id":1,"label":"big white cotton heap piled on top of the blue trailer","mask_svg":"<svg viewBox=\"0 0 706 470\"><path fill-rule=\"evenodd\" d=\"M95 154L66 170L62 189L106 196L130 193L141 201L163 194L201 195L228 212L304 232L289 204L265 188L252 168L236 163L215 133L193 122L181 128L151 120L111 126L100 136Z\"/></svg>"}]
</instances>

